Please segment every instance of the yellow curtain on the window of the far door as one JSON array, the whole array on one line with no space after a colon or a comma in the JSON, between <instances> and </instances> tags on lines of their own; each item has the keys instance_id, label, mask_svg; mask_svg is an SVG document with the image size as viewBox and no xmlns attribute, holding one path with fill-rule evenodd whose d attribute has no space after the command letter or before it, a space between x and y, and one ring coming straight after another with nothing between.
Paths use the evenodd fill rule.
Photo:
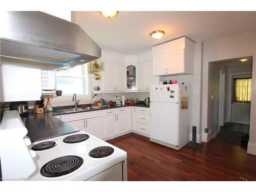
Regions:
<instances>
[{"instance_id":1,"label":"yellow curtain on the window of the far door","mask_svg":"<svg viewBox=\"0 0 256 192\"><path fill-rule=\"evenodd\" d=\"M233 79L233 102L251 102L251 78Z\"/></svg>"}]
</instances>

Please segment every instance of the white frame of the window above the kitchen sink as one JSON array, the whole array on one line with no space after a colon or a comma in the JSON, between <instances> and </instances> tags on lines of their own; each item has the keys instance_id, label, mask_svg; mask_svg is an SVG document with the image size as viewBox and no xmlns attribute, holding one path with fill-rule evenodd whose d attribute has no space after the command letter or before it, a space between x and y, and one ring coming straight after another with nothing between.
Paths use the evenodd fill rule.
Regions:
<instances>
[{"instance_id":1,"label":"white frame of the window above the kitchen sink","mask_svg":"<svg viewBox=\"0 0 256 192\"><path fill-rule=\"evenodd\" d=\"M86 66L87 66L87 71L86 71ZM86 74L87 72L87 74ZM55 90L57 90L57 77L67 77L67 78L82 78L82 87L83 87L83 92L87 92L83 93L83 94L76 94L77 99L82 99L82 98L90 98L91 99L91 76L90 76L90 62L88 63L84 63L82 65L82 77L74 77L74 76L60 76L57 75L57 73L55 73ZM84 87L86 87L86 84L88 84L88 90L84 90ZM59 99L63 99L63 100L69 100L73 98L73 94L71 95L61 95L61 96L57 96L56 99L54 100L59 100Z\"/></svg>"}]
</instances>

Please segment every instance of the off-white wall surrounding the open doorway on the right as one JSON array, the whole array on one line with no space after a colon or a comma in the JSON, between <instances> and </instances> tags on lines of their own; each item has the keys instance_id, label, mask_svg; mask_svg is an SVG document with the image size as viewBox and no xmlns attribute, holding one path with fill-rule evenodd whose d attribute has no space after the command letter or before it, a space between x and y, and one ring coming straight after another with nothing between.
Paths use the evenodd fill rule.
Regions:
<instances>
[{"instance_id":1,"label":"off-white wall surrounding the open doorway on the right","mask_svg":"<svg viewBox=\"0 0 256 192\"><path fill-rule=\"evenodd\" d=\"M202 130L207 127L208 120L211 116L208 114L212 109L208 107L208 66L211 61L218 61L224 59L245 57L245 56L256 56L255 55L255 31L222 38L214 41L204 42L203 50L203 97L202 97ZM253 60L253 63L255 59ZM253 65L254 72L256 68ZM256 76L256 74L255 74ZM253 77L252 77L253 78ZM255 79L253 79L253 83ZM256 94L256 88L254 88L254 94ZM255 96L252 98L252 105L256 102ZM253 109L253 108L252 108ZM255 118L251 118L251 130L254 132L255 129L255 142L256 142L256 121ZM254 125L254 126L253 126ZM207 142L212 136L212 127L208 127L209 133L203 133L203 141ZM251 134L250 134L251 135ZM251 137L250 137L251 139ZM254 140L253 140L254 141ZM256 152L256 151L255 151Z\"/></svg>"}]
</instances>

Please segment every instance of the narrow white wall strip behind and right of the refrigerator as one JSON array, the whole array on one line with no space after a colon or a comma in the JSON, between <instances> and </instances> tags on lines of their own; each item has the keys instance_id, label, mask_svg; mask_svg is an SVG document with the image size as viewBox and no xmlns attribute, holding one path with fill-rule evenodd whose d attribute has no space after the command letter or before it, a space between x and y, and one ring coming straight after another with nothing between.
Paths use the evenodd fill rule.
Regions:
<instances>
[{"instance_id":1,"label":"narrow white wall strip behind and right of the refrigerator","mask_svg":"<svg viewBox=\"0 0 256 192\"><path fill-rule=\"evenodd\" d=\"M202 42L196 43L195 66L193 75L180 75L171 77L160 77L160 81L166 79L177 79L178 83L184 82L189 89L189 113L190 113L190 140L192 138L192 126L197 126L197 142L202 141L202 129L200 124L200 100L201 100L201 70L202 70Z\"/></svg>"}]
</instances>

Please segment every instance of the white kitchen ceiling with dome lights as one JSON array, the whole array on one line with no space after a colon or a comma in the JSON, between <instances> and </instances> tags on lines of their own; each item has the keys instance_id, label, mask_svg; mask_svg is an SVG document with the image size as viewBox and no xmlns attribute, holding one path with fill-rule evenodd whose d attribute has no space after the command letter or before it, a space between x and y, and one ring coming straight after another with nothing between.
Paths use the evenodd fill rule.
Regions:
<instances>
[{"instance_id":1,"label":"white kitchen ceiling with dome lights","mask_svg":"<svg viewBox=\"0 0 256 192\"><path fill-rule=\"evenodd\" d=\"M123 54L151 50L161 42L187 36L208 41L256 29L256 12L119 11L107 19L98 11L73 11L72 21L80 25L101 49ZM150 32L165 31L154 40Z\"/></svg>"}]
</instances>

